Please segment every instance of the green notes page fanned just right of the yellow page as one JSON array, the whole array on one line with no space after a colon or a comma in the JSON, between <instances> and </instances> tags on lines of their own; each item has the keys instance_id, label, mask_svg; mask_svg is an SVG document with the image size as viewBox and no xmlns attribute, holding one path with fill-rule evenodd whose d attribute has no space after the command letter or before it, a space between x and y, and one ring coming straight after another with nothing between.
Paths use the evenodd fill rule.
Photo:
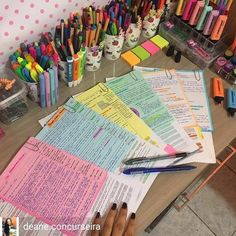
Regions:
<instances>
[{"instance_id":1,"label":"green notes page fanned just right of the yellow page","mask_svg":"<svg viewBox=\"0 0 236 236\"><path fill-rule=\"evenodd\" d=\"M107 81L106 85L131 107L131 110L143 119L163 142L178 151L196 149L194 143L140 72L132 71Z\"/></svg>"}]
</instances>

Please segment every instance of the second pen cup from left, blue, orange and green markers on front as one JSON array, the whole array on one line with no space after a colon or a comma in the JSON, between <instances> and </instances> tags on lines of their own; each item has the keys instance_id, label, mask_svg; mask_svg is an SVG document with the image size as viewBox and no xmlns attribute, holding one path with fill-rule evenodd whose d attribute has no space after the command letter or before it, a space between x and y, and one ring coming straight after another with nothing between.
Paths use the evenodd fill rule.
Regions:
<instances>
[{"instance_id":1,"label":"second pen cup from left, blue, orange and green markers on front","mask_svg":"<svg viewBox=\"0 0 236 236\"><path fill-rule=\"evenodd\" d=\"M77 86L84 76L86 61L85 29L79 13L71 13L67 20L61 19L54 41L60 58L59 79L69 87Z\"/></svg>"}]
</instances>

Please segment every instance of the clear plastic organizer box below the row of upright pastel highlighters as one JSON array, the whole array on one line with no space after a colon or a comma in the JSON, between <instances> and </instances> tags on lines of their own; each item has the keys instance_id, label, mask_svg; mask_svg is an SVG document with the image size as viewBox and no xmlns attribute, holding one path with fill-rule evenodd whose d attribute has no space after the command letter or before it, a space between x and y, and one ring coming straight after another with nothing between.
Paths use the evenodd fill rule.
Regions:
<instances>
[{"instance_id":1,"label":"clear plastic organizer box below the row of upright pastel highlighters","mask_svg":"<svg viewBox=\"0 0 236 236\"><path fill-rule=\"evenodd\" d=\"M224 38L212 42L175 15L160 24L159 34L202 69L210 67L227 47Z\"/></svg>"}]
</instances>

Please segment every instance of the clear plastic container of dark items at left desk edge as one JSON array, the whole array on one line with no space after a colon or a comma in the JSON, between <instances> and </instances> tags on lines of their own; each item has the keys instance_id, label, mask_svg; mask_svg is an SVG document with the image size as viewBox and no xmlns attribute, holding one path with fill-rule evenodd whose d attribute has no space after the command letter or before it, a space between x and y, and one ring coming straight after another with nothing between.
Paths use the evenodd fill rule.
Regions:
<instances>
[{"instance_id":1,"label":"clear plastic container of dark items at left desk edge","mask_svg":"<svg viewBox=\"0 0 236 236\"><path fill-rule=\"evenodd\" d=\"M0 121L9 124L28 112L27 90L10 69L1 71L0 78L15 79L10 90L0 87Z\"/></svg>"}]
</instances>

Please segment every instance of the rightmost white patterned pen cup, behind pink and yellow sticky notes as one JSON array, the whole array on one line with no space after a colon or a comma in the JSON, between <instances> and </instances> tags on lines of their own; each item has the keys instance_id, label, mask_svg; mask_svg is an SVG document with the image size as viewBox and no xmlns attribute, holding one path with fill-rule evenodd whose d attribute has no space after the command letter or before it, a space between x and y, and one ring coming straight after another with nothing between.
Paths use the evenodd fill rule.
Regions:
<instances>
[{"instance_id":1,"label":"rightmost white patterned pen cup, behind pink and yellow sticky notes","mask_svg":"<svg viewBox=\"0 0 236 236\"><path fill-rule=\"evenodd\" d=\"M143 21L143 28L142 28L142 36L144 38L151 38L157 32L157 27L160 23L160 17L156 17L155 15L145 19Z\"/></svg>"}]
</instances>

